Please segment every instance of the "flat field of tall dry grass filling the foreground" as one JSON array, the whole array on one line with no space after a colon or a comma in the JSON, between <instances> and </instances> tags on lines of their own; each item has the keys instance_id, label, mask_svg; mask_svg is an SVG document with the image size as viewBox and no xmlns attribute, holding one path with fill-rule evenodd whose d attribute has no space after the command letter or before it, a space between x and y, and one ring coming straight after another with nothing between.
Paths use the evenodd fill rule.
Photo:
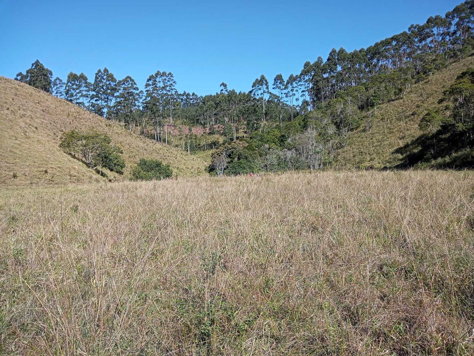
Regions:
<instances>
[{"instance_id":1,"label":"flat field of tall dry grass filling the foreground","mask_svg":"<svg viewBox=\"0 0 474 356\"><path fill-rule=\"evenodd\" d=\"M474 174L0 193L2 355L473 355Z\"/></svg>"}]
</instances>

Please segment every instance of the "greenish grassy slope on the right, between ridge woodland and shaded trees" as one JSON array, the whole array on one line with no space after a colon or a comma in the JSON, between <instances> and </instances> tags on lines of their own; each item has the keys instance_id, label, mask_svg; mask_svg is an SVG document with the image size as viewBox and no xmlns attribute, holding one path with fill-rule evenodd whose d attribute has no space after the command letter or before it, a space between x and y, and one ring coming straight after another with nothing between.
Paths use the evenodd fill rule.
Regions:
<instances>
[{"instance_id":1,"label":"greenish grassy slope on the right, between ridge woodland and shaded trees","mask_svg":"<svg viewBox=\"0 0 474 356\"><path fill-rule=\"evenodd\" d=\"M353 132L346 150L337 153L335 166L382 168L401 163L403 156L394 150L419 137L421 132L418 123L429 108L448 114L444 108L446 103L438 103L443 91L454 82L457 75L473 66L474 57L465 58L423 82L412 85L403 99L377 107L376 114L375 111L372 112L375 121L371 131L361 127ZM417 147L410 149L417 150Z\"/></svg>"}]
</instances>

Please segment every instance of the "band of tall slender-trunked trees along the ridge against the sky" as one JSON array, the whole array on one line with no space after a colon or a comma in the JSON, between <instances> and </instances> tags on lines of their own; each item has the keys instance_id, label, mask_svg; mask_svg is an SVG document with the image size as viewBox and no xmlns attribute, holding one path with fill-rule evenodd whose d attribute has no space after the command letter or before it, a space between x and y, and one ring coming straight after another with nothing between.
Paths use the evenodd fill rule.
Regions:
<instances>
[{"instance_id":1,"label":"band of tall slender-trunked trees along the ridge against the sky","mask_svg":"<svg viewBox=\"0 0 474 356\"><path fill-rule=\"evenodd\" d=\"M403 97L411 84L468 56L474 46L473 20L474 0L467 0L444 17L430 17L370 47L352 52L333 48L326 60L319 56L307 61L300 73L288 78L277 74L272 82L261 75L248 92L228 90L221 83L215 94L179 93L173 74L160 71L140 90L133 78L116 80L107 68L99 69L93 82L71 72L64 83L59 77L53 80L39 61L16 79L156 141L168 143L171 132L171 144L188 151L191 146L207 149L207 142L182 126L204 127L204 135L218 127L224 137L219 144L253 140L253 146L261 147L259 157L271 149L269 141L277 150L293 150L294 142L302 140L298 135L309 135L318 144L301 157L318 168L332 160L334 150L346 146L350 131L362 124L370 130L371 122L362 122L361 112L376 114L378 105ZM180 127L178 133L175 127ZM278 132L276 141L272 130ZM173 142L176 134L187 135L187 147L184 140ZM320 164L308 158L314 158L315 150L323 151Z\"/></svg>"}]
</instances>

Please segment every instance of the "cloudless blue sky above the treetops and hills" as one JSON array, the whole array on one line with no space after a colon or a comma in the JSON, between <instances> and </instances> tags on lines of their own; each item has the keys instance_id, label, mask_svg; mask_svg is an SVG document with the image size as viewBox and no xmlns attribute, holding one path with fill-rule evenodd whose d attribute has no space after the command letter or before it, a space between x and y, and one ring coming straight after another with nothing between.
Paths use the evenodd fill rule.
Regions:
<instances>
[{"instance_id":1,"label":"cloudless blue sky above the treetops and hills","mask_svg":"<svg viewBox=\"0 0 474 356\"><path fill-rule=\"evenodd\" d=\"M348 52L424 23L461 0L0 0L0 75L14 78L39 59L66 81L107 67L140 89L157 70L176 88L248 91L264 74L285 79L331 48Z\"/></svg>"}]
</instances>

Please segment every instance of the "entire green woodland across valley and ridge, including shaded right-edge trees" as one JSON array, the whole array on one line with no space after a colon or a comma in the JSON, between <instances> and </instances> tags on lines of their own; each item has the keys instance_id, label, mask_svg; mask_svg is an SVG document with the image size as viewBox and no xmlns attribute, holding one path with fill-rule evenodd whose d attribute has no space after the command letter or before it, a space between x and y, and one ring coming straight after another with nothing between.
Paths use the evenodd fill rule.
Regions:
<instances>
[{"instance_id":1,"label":"entire green woodland across valley and ridge, including shaded right-edge trees","mask_svg":"<svg viewBox=\"0 0 474 356\"><path fill-rule=\"evenodd\" d=\"M150 75L141 89L132 77L117 80L107 68L93 81L71 72L64 82L38 60L15 79L151 140L190 153L212 149L210 171L218 175L313 170L330 166L352 131L370 131L378 105L402 98L412 84L469 56L473 29L474 0L467 0L444 17L430 17L370 47L333 48L326 60L307 61L288 78L261 75L248 92L221 83L215 94L179 93L166 71ZM407 158L406 167L439 165L453 150L470 148L473 95L474 74L468 71L445 91L448 117L436 111L423 116L422 150Z\"/></svg>"}]
</instances>

